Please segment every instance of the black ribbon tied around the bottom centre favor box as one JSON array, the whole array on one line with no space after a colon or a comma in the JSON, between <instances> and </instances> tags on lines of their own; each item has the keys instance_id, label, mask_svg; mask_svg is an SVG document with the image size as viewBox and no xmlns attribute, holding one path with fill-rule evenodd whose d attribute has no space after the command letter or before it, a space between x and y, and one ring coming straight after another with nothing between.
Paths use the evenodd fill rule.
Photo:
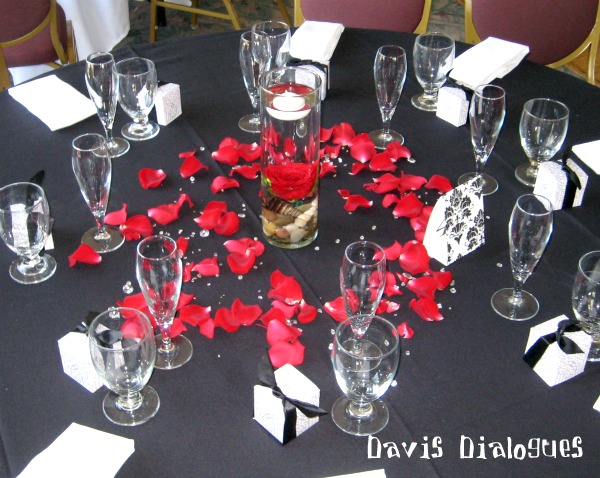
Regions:
<instances>
[{"instance_id":1,"label":"black ribbon tied around the bottom centre favor box","mask_svg":"<svg viewBox=\"0 0 600 478\"><path fill-rule=\"evenodd\" d=\"M258 381L260 385L270 388L274 396L281 399L281 403L285 411L283 443L296 438L297 410L300 410L309 418L327 414L327 410L324 410L317 405L296 400L295 398L290 398L285 395L277 385L273 364L271 363L268 355L265 355L258 364Z\"/></svg>"}]
</instances>

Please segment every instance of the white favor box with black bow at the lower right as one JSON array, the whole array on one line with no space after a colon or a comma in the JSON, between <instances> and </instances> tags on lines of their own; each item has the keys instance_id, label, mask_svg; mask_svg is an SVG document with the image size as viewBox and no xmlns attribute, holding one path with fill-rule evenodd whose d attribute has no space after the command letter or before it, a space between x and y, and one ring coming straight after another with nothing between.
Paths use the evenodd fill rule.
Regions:
<instances>
[{"instance_id":1,"label":"white favor box with black bow at the lower right","mask_svg":"<svg viewBox=\"0 0 600 478\"><path fill-rule=\"evenodd\" d=\"M562 320L569 319L565 315L560 315L532 327L529 331L529 339L527 340L525 351L527 352L540 337L556 332L558 323ZM542 355L540 360L533 367L533 370L551 387L583 372L592 345L591 336L586 334L583 330L577 332L565 332L564 336L573 340L583 353L566 354L560 349L556 342L548 345L544 355Z\"/></svg>"}]
</instances>

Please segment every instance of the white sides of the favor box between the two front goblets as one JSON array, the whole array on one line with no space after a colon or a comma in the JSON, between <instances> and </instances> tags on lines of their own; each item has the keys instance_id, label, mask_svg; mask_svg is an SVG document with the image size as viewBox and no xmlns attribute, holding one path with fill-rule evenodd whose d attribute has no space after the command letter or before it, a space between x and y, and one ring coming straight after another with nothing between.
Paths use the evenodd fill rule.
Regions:
<instances>
[{"instance_id":1,"label":"white sides of the favor box between the two front goblets","mask_svg":"<svg viewBox=\"0 0 600 478\"><path fill-rule=\"evenodd\" d=\"M319 406L319 388L294 366L287 364L277 369L275 380L285 396ZM290 438L285 432L286 426L290 426L291 414L294 413L296 426L292 434L294 436ZM292 409L288 406L286 410L282 399L273 395L273 391L263 385L254 386L254 419L282 445L319 421L319 417L309 418L295 407Z\"/></svg>"}]
</instances>

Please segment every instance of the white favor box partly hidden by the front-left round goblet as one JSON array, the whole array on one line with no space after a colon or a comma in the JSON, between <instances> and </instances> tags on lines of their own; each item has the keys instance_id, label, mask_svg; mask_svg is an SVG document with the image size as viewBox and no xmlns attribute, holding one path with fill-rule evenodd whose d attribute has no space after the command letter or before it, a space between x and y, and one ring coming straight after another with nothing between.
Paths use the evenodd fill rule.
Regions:
<instances>
[{"instance_id":1,"label":"white favor box partly hidden by the front-left round goblet","mask_svg":"<svg viewBox=\"0 0 600 478\"><path fill-rule=\"evenodd\" d=\"M103 385L92 363L86 334L69 332L58 340L58 349L63 370L69 377L92 393Z\"/></svg>"}]
</instances>

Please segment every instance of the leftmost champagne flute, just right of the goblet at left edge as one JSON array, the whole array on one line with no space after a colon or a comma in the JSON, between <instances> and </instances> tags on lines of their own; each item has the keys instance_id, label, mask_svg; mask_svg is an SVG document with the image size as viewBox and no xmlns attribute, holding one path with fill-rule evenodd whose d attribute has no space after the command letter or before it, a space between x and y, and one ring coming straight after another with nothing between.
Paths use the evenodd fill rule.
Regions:
<instances>
[{"instance_id":1,"label":"leftmost champagne flute, just right of the goblet at left edge","mask_svg":"<svg viewBox=\"0 0 600 478\"><path fill-rule=\"evenodd\" d=\"M104 225L112 176L112 162L106 140L95 133L75 138L71 164L81 194L96 219L96 227L83 235L82 244L87 244L101 254L118 249L125 240L123 234L119 229Z\"/></svg>"}]
</instances>

